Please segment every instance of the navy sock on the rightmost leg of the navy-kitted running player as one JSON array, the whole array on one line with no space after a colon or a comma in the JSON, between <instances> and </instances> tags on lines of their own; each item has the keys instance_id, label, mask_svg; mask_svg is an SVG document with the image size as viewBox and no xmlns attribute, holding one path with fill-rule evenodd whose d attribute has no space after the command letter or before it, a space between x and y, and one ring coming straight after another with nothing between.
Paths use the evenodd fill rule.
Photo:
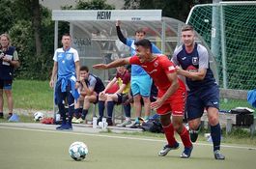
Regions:
<instances>
[{"instance_id":1,"label":"navy sock on the rightmost leg of the navy-kitted running player","mask_svg":"<svg viewBox=\"0 0 256 169\"><path fill-rule=\"evenodd\" d=\"M213 140L213 151L219 150L221 137L221 129L219 124L214 127L211 126L211 136Z\"/></svg>"}]
</instances>

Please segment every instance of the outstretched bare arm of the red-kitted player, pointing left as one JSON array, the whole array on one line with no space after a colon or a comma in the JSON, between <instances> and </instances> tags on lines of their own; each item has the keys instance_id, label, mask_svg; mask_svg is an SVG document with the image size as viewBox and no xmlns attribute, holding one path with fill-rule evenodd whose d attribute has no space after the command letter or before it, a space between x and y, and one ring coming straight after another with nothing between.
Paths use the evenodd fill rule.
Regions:
<instances>
[{"instance_id":1,"label":"outstretched bare arm of the red-kitted player, pointing left","mask_svg":"<svg viewBox=\"0 0 256 169\"><path fill-rule=\"evenodd\" d=\"M130 59L130 57L117 59L113 62L110 62L109 64L97 64L97 65L94 65L93 68L97 69L97 70L107 70L107 69L111 69L111 68L117 68L117 67L121 67L124 65L129 65L129 59Z\"/></svg>"}]
</instances>

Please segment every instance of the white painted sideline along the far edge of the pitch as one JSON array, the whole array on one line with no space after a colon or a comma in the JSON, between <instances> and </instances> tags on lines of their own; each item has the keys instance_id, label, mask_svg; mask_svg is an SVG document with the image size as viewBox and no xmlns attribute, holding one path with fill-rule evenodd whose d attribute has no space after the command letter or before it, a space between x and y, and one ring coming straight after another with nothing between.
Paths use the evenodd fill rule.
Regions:
<instances>
[{"instance_id":1,"label":"white painted sideline along the far edge of the pitch","mask_svg":"<svg viewBox=\"0 0 256 169\"><path fill-rule=\"evenodd\" d=\"M59 130L49 130L49 129L40 129L40 128L20 128L17 126L14 127L5 127L0 125L1 128L15 129L15 130L27 130L27 131L39 131L39 132L50 132L50 133L61 133L61 134L73 134L73 135L87 135L87 136L95 136L95 137L106 137L106 138L117 138L117 139L128 139L128 140L140 140L140 141L152 141L152 142L165 142L165 140L158 140L153 138L138 138L138 137L126 137L126 136L117 136L117 135L106 135L100 133L84 133L78 131L59 131ZM198 146L212 146L212 144L207 143L194 143L194 145ZM256 151L256 147L247 147L247 146L235 146L235 145L226 145L221 144L223 148L232 148L232 149L246 149L246 150L254 150Z\"/></svg>"}]
</instances>

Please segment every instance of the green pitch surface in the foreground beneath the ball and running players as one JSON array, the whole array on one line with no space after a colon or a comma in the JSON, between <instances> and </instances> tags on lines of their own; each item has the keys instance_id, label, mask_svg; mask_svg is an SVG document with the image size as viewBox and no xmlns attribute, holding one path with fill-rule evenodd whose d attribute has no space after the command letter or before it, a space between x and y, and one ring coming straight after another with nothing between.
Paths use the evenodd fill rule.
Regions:
<instances>
[{"instance_id":1,"label":"green pitch surface in the foreground beneath the ball and running players","mask_svg":"<svg viewBox=\"0 0 256 169\"><path fill-rule=\"evenodd\" d=\"M256 148L223 145L226 160L213 159L212 145L194 145L189 159L182 159L183 148L160 157L164 139L114 133L82 133L0 126L1 169L241 169L256 166ZM68 150L72 142L82 141L89 148L85 160L74 161Z\"/></svg>"}]
</instances>

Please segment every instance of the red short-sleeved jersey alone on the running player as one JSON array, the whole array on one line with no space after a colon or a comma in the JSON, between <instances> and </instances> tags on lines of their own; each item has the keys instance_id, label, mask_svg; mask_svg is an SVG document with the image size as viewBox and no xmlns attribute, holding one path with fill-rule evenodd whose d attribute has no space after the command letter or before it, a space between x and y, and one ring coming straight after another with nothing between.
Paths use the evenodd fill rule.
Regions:
<instances>
[{"instance_id":1,"label":"red short-sleeved jersey alone on the running player","mask_svg":"<svg viewBox=\"0 0 256 169\"><path fill-rule=\"evenodd\" d=\"M157 55L156 58L151 62L140 63L138 57L131 57L129 60L130 64L141 66L148 74L153 78L156 87L160 91L166 91L171 86L166 74L173 73L176 71L174 64L164 55ZM181 79L178 79L180 88L185 89L185 84Z\"/></svg>"}]
</instances>

